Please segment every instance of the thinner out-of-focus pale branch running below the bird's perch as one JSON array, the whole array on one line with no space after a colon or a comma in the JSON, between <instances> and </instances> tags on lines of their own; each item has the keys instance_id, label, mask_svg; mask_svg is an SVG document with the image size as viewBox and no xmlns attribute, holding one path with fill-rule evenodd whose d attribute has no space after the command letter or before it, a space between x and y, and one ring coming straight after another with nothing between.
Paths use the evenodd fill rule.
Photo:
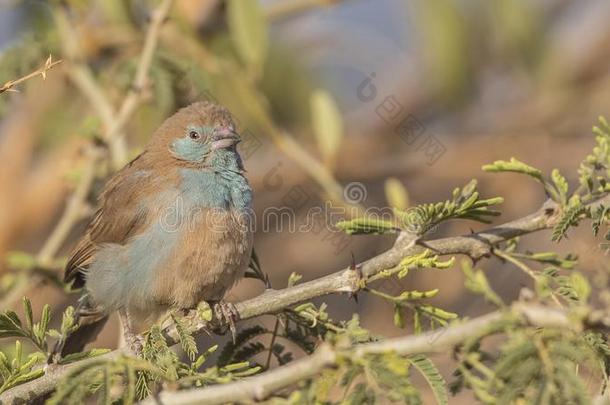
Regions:
<instances>
[{"instance_id":1,"label":"thinner out-of-focus pale branch running below the bird's perch","mask_svg":"<svg viewBox=\"0 0 610 405\"><path fill-rule=\"evenodd\" d=\"M278 390L290 387L303 379L311 378L328 367L337 365L343 357L361 358L374 353L395 352L408 356L413 354L437 353L460 345L472 336L486 333L489 326L504 319L517 320L521 324L535 327L558 327L577 330L581 325L566 311L517 303L509 311L496 311L481 317L457 323L421 335L410 335L383 340L380 342L357 345L349 349L335 349L323 343L311 356L296 360L260 375L244 380L195 388L184 391L165 391L155 399L142 404L187 405L187 404L224 404L233 402L260 401Z\"/></svg>"}]
</instances>

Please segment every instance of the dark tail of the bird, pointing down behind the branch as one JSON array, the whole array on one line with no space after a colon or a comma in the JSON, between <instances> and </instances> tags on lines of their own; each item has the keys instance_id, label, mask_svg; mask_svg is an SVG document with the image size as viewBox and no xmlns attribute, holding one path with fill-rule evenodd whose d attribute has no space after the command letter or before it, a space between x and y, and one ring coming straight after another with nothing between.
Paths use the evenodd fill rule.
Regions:
<instances>
[{"instance_id":1,"label":"dark tail of the bird, pointing down behind the branch","mask_svg":"<svg viewBox=\"0 0 610 405\"><path fill-rule=\"evenodd\" d=\"M69 354L82 352L87 343L95 340L108 321L108 315L98 308L93 308L86 296L79 300L74 310L74 318L78 329L59 339L51 352L49 362L57 362Z\"/></svg>"}]
</instances>

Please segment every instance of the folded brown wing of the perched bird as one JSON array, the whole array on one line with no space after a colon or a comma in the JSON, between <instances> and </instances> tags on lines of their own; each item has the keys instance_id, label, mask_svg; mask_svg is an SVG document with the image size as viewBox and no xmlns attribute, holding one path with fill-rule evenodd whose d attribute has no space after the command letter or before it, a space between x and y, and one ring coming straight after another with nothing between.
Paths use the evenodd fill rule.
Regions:
<instances>
[{"instance_id":1,"label":"folded brown wing of the perched bird","mask_svg":"<svg viewBox=\"0 0 610 405\"><path fill-rule=\"evenodd\" d=\"M143 187L147 172L140 164L142 156L132 160L106 184L100 196L100 208L66 264L64 281L74 281L74 288L84 285L82 272L89 267L101 244L123 244L142 231L147 212L138 201L142 193L150 192L149 187Z\"/></svg>"}]
</instances>

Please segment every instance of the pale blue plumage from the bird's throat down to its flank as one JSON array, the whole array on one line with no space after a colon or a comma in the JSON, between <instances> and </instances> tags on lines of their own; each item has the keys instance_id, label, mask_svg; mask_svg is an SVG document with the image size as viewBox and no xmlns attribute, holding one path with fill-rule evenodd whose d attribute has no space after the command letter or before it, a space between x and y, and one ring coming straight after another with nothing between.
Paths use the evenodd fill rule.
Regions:
<instances>
[{"instance_id":1,"label":"pale blue plumage from the bird's throat down to its flank","mask_svg":"<svg viewBox=\"0 0 610 405\"><path fill-rule=\"evenodd\" d=\"M145 308L154 301L151 290L155 273L174 253L182 232L189 229L184 226L183 221L188 220L188 216L182 216L184 213L198 208L250 213L252 190L240 173L181 169L180 175L177 193L161 193L143 204L143 209L151 204L168 206L163 218L152 221L128 244L108 244L96 254L87 275L87 288L94 300L108 310ZM179 204L173 201L176 194Z\"/></svg>"}]
</instances>

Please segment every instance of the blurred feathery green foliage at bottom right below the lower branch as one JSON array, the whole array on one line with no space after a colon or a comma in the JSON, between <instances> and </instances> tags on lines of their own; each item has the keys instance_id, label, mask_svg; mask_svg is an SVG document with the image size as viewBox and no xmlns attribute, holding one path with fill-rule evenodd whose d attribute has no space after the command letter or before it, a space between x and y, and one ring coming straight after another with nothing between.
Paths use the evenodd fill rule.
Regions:
<instances>
[{"instance_id":1,"label":"blurred feathery green foliage at bottom right below the lower branch","mask_svg":"<svg viewBox=\"0 0 610 405\"><path fill-rule=\"evenodd\" d=\"M589 403L579 369L590 365L590 371L599 371L595 368L599 363L598 355L581 336L548 329L514 331L509 337L497 358L481 353L463 355L459 375L479 400Z\"/></svg>"}]
</instances>

